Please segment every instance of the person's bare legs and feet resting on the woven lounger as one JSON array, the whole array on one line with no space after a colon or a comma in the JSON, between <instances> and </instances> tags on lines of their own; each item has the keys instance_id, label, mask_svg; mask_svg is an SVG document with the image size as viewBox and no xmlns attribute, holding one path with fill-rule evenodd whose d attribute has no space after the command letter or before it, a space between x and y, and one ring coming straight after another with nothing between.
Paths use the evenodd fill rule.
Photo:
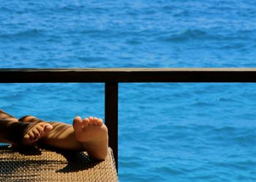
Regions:
<instances>
[{"instance_id":1,"label":"person's bare legs and feet resting on the woven lounger","mask_svg":"<svg viewBox=\"0 0 256 182\"><path fill-rule=\"evenodd\" d=\"M102 119L92 116L84 119L76 116L71 125L45 122L34 116L17 119L0 110L0 133L0 142L4 143L26 146L41 143L59 149L87 151L90 157L99 160L108 154L108 128Z\"/></svg>"}]
</instances>

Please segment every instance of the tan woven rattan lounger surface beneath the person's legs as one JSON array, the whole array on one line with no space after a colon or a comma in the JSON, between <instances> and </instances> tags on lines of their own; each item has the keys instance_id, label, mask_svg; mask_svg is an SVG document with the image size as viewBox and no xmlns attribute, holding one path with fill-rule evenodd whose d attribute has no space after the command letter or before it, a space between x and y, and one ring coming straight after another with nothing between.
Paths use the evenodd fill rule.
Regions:
<instances>
[{"instance_id":1,"label":"tan woven rattan lounger surface beneath the person's legs","mask_svg":"<svg viewBox=\"0 0 256 182\"><path fill-rule=\"evenodd\" d=\"M0 146L0 181L118 181L113 152L92 161L86 152Z\"/></svg>"}]
</instances>

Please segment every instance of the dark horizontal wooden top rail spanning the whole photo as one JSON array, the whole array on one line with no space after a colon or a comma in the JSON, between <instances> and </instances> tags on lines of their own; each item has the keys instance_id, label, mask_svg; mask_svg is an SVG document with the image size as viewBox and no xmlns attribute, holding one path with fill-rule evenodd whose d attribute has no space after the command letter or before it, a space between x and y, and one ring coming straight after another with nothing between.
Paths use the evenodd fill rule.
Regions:
<instances>
[{"instance_id":1,"label":"dark horizontal wooden top rail spanning the whole photo","mask_svg":"<svg viewBox=\"0 0 256 182\"><path fill-rule=\"evenodd\" d=\"M10 68L0 82L256 82L256 68Z\"/></svg>"}]
</instances>

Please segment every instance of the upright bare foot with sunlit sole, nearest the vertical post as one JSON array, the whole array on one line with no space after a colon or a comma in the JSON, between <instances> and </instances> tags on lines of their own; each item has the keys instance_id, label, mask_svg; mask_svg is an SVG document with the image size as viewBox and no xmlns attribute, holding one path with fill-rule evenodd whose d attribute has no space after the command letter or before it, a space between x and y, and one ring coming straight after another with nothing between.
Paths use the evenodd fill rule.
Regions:
<instances>
[{"instance_id":1,"label":"upright bare foot with sunlit sole, nearest the vertical post","mask_svg":"<svg viewBox=\"0 0 256 182\"><path fill-rule=\"evenodd\" d=\"M76 116L73 122L75 137L83 143L90 157L104 160L108 155L108 128L102 119Z\"/></svg>"}]
</instances>

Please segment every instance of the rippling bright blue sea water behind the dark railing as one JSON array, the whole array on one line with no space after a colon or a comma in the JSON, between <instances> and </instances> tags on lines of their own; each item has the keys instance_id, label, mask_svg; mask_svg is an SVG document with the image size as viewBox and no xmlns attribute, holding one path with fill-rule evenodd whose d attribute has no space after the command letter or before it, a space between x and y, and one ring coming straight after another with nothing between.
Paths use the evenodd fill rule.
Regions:
<instances>
[{"instance_id":1,"label":"rippling bright blue sea water behind the dark railing","mask_svg":"<svg viewBox=\"0 0 256 182\"><path fill-rule=\"evenodd\" d=\"M249 0L0 0L0 68L256 67ZM103 84L0 84L0 108L104 119ZM256 181L256 84L119 84L120 181Z\"/></svg>"}]
</instances>

